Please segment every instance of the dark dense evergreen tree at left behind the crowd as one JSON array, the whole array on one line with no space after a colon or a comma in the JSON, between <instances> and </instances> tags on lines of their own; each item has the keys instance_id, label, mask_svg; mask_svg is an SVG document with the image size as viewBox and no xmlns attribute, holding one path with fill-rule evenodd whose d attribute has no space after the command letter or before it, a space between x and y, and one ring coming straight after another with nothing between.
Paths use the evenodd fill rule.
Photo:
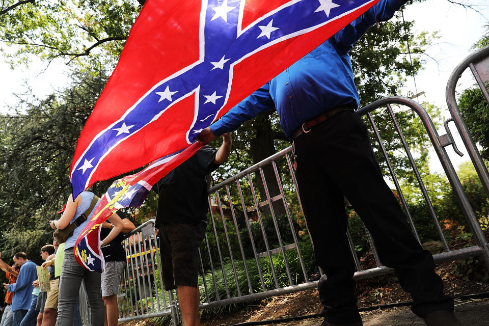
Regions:
<instances>
[{"instance_id":1,"label":"dark dense evergreen tree at left behind the crowd","mask_svg":"<svg viewBox=\"0 0 489 326\"><path fill-rule=\"evenodd\" d=\"M7 199L0 203L0 248L37 257L50 242L46 219L54 218L71 192L76 139L105 82L104 75L75 73L70 88L43 100L21 100L13 114L0 116L0 196ZM107 183L94 192L105 192Z\"/></svg>"}]
</instances>

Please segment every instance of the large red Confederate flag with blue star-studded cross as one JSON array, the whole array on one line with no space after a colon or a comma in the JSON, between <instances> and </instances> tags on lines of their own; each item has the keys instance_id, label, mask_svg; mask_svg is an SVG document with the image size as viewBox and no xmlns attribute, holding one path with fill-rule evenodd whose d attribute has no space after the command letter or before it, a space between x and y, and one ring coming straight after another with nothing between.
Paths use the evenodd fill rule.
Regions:
<instances>
[{"instance_id":1,"label":"large red Confederate flag with blue star-studded cross","mask_svg":"<svg viewBox=\"0 0 489 326\"><path fill-rule=\"evenodd\" d=\"M377 1L146 1L78 139L73 198L188 147Z\"/></svg>"}]
</instances>

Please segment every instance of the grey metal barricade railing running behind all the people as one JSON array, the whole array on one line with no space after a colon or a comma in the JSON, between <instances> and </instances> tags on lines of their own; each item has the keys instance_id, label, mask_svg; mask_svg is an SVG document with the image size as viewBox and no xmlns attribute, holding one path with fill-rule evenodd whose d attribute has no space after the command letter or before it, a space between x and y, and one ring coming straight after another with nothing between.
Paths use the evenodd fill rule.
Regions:
<instances>
[{"instance_id":1,"label":"grey metal barricade railing running behind all the people","mask_svg":"<svg viewBox=\"0 0 489 326\"><path fill-rule=\"evenodd\" d=\"M447 86L447 101L453 117L450 121L456 124L487 194L489 194L489 174L456 106L454 85L457 76L461 73L459 70L469 66L473 71L479 69L476 80L478 83L481 80L479 85L483 86L483 82L489 77L488 55L487 47L474 53L468 58L469 63L457 67ZM486 68L482 73L481 67ZM482 89L485 90L483 87ZM489 101L486 91L484 95ZM450 248L439 221L440 216L433 207L422 173L417 167L409 142L404 137L403 126L398 122L397 113L394 112L394 107L397 106L416 113L426 129L433 150L437 153L471 228L475 245L456 250ZM391 164L392 155L386 149L382 132L377 129L372 117L374 112L381 110L385 110L387 117L390 118L390 126L398 135L404 149L402 155L409 161L416 187L420 190L424 205L427 207L430 226L438 234L444 249L444 252L433 256L434 261L439 263L481 256L489 268L488 241L445 150L446 146L453 145L454 150L458 152L447 127L448 121L445 123L447 134L439 135L421 105L399 96L375 101L358 111L370 122L378 153L381 153L385 159L384 164L390 173L390 181L396 188L406 219L419 242L421 242L419 225L415 224L409 202L395 173L396 169ZM208 204L211 214L199 252L202 274L201 308L254 301L316 286L317 282L308 282L308 275L314 269L311 251L308 248L313 244L307 237L301 239L298 236L298 231L301 231L302 227L297 225L296 220L303 216L303 211L290 153L291 147L285 148L209 189ZM390 273L391 269L383 266L379 261L368 230L365 229L364 232L369 241L373 265L372 262L366 264L359 259L356 243L350 232L347 233L350 251L357 266L355 279ZM172 291L166 293L163 290L154 220L146 222L131 232L130 237L124 241L124 246L128 252L128 263L121 277L118 295L120 321L172 315L173 323L178 324L178 303L174 298L175 293ZM305 251L307 256L304 256Z\"/></svg>"}]
</instances>

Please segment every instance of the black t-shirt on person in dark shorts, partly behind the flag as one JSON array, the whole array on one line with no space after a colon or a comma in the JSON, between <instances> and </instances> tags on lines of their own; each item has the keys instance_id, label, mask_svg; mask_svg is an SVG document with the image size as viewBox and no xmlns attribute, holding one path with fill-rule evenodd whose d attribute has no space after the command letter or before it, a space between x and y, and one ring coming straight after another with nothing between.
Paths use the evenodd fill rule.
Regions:
<instances>
[{"instance_id":1,"label":"black t-shirt on person in dark shorts, partly behind the flag","mask_svg":"<svg viewBox=\"0 0 489 326\"><path fill-rule=\"evenodd\" d=\"M210 146L203 147L155 183L156 225L171 222L196 225L207 219L206 176L219 167L212 164L216 152Z\"/></svg>"}]
</instances>

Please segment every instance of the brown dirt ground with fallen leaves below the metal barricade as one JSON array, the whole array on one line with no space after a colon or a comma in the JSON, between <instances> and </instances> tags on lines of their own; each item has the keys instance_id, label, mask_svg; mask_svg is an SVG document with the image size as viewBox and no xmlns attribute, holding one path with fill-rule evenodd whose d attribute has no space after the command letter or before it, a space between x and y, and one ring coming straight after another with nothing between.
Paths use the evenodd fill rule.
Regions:
<instances>
[{"instance_id":1,"label":"brown dirt ground with fallen leaves below the metal barricade","mask_svg":"<svg viewBox=\"0 0 489 326\"><path fill-rule=\"evenodd\" d=\"M474 282L460 279L452 273L452 262L442 263L436 267L437 273L445 280L445 292L451 296L459 296L465 294L474 294L489 291L489 282ZM390 303L408 302L411 297L408 293L404 292L397 282L396 278L392 275L375 277L357 282L357 295L359 298L359 307L372 307ZM457 304L464 305L468 301L457 301ZM485 301L486 306L481 309L489 309L489 301ZM475 308L474 308L475 309ZM486 310L484 315L487 317ZM409 307L392 308L388 309L394 311L394 319L401 320L402 314L406 315L406 318L413 318L413 314L409 311ZM395 311L398 311L396 315ZM321 312L321 305L319 304L317 290L307 290L302 292L296 292L287 295L281 295L271 298L266 298L261 302L251 305L245 309L241 309L234 312L228 312L217 318L203 319L203 326L223 326L232 325L241 322L249 321L262 321L270 319L281 319L287 317L295 317L302 315L311 315ZM377 325L379 310L363 312L362 318L366 325ZM469 314L470 315L470 314ZM416 319L419 319L415 317ZM393 319L393 320L394 320ZM376 321L377 320L377 321ZM487 318L485 318L487 320ZM319 325L322 319L313 318L305 319L294 322L277 323L276 325ZM419 319L421 324L424 324ZM140 320L119 323L120 326L151 326L153 323L151 320ZM389 323L390 324L390 323ZM393 323L398 324L398 323ZM416 321L406 321L406 325L416 325ZM489 322L487 323L489 324Z\"/></svg>"}]
</instances>

